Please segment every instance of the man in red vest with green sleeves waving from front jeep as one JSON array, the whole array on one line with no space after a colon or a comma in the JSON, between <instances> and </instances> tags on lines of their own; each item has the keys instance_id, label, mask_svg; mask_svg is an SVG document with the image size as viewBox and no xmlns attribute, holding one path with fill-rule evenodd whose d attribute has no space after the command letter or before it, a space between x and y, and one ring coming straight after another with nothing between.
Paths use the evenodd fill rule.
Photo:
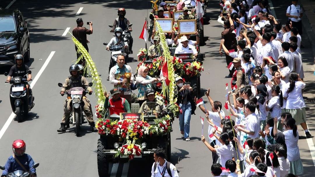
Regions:
<instances>
[{"instance_id":1,"label":"man in red vest with green sleeves waving from front jeep","mask_svg":"<svg viewBox=\"0 0 315 177\"><path fill-rule=\"evenodd\" d=\"M120 91L117 88L113 88L111 91L112 98L109 99L109 94L104 92L105 103L104 109L109 108L110 115L117 114L123 112L130 112L130 106L126 99L120 97Z\"/></svg>"}]
</instances>

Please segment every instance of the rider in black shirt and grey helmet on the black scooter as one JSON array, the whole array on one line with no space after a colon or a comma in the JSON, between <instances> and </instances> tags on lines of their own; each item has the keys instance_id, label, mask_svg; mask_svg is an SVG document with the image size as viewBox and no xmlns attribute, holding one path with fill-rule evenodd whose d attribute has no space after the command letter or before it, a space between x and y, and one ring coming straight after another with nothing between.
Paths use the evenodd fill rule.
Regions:
<instances>
[{"instance_id":1,"label":"rider in black shirt and grey helmet on the black scooter","mask_svg":"<svg viewBox=\"0 0 315 177\"><path fill-rule=\"evenodd\" d=\"M14 58L15 58L15 65L11 67L6 82L7 83L10 82L12 77L18 77L18 76L24 77L27 79L27 81L30 81L32 79L31 71L28 68L28 66L24 64L23 55L17 54L14 56ZM30 85L26 84L26 88L27 88L27 94L30 94L31 93Z\"/></svg>"}]
</instances>

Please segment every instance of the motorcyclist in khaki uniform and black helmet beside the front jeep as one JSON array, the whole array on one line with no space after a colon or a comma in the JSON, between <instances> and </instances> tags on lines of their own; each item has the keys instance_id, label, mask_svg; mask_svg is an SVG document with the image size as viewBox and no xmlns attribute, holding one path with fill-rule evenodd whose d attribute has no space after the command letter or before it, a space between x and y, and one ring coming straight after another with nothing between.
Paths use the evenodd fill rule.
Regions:
<instances>
[{"instance_id":1,"label":"motorcyclist in khaki uniform and black helmet beside the front jeep","mask_svg":"<svg viewBox=\"0 0 315 177\"><path fill-rule=\"evenodd\" d=\"M73 87L82 87L85 90L89 91L89 94L92 93L91 87L89 87L89 83L86 80L85 77L80 76L78 74L79 66L77 64L73 64L69 68L69 72L71 76L67 77L65 80L65 83L63 83L60 94L63 95L65 94L66 90L69 90L70 88ZM95 123L93 122L93 113L92 113L92 107L89 99L83 95L82 97L84 106L83 106L83 111L85 113L85 116L91 126L91 131L92 132L97 132L97 129L95 128ZM66 98L66 102L64 103L64 114L61 120L61 127L57 130L57 132L65 132L66 131L66 124L67 128L69 128L69 118L70 118L70 113L71 113L71 97Z\"/></svg>"}]
</instances>

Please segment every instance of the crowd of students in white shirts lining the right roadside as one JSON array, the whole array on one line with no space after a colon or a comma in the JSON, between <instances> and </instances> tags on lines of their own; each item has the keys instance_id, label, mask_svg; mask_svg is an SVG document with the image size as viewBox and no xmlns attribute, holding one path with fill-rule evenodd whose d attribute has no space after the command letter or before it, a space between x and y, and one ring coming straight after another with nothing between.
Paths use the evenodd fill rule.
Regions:
<instances>
[{"instance_id":1,"label":"crowd of students in white shirts lining the right roadside","mask_svg":"<svg viewBox=\"0 0 315 177\"><path fill-rule=\"evenodd\" d=\"M284 25L270 14L267 0L221 0L220 8L218 22L225 28L220 53L226 54L227 77L241 70L243 84L228 92L223 104L212 100L209 88L212 110L198 106L209 123L209 141L201 140L212 152L212 174L301 176L297 125L311 137L302 95L301 8L292 0ZM236 70L230 62L238 61L241 69Z\"/></svg>"}]
</instances>

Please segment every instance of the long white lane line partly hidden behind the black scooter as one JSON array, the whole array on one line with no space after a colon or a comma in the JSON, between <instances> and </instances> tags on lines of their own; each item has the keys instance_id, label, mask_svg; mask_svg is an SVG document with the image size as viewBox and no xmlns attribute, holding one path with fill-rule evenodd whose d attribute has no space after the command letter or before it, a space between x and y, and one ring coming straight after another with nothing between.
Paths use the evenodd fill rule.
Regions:
<instances>
[{"instance_id":1,"label":"long white lane line partly hidden behind the black scooter","mask_svg":"<svg viewBox=\"0 0 315 177\"><path fill-rule=\"evenodd\" d=\"M40 75L43 73L43 71L45 70L46 66L48 65L49 61L51 60L51 58L54 56L55 51L52 51L47 60L45 61L45 63L43 64L42 68L38 71L37 75L35 76L34 80L32 81L32 83L30 84L31 88L34 87L35 83L37 82L38 78L40 77ZM12 122L12 120L14 119L15 114L14 112L11 113L11 115L9 116L8 120L5 122L5 124L3 125L3 127L0 130L0 140L4 134L4 132L9 128L10 123Z\"/></svg>"}]
</instances>

